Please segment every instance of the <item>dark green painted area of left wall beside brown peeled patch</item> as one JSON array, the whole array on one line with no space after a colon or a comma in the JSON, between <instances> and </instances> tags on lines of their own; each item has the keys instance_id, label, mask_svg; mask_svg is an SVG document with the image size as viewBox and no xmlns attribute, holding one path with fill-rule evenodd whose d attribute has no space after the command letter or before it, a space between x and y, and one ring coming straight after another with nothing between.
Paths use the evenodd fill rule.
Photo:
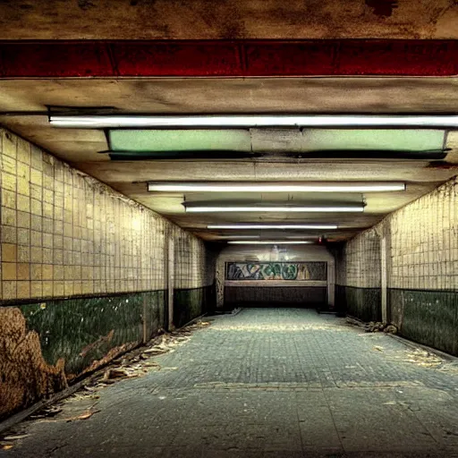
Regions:
<instances>
[{"instance_id":1,"label":"dark green painted area of left wall beside brown peeled patch","mask_svg":"<svg viewBox=\"0 0 458 458\"><path fill-rule=\"evenodd\" d=\"M165 327L165 297L165 291L150 291L47 301L19 309L27 327L38 333L45 360L55 364L64 358L65 373L77 375L114 348L140 344L143 318L148 338Z\"/></svg>"}]
</instances>

